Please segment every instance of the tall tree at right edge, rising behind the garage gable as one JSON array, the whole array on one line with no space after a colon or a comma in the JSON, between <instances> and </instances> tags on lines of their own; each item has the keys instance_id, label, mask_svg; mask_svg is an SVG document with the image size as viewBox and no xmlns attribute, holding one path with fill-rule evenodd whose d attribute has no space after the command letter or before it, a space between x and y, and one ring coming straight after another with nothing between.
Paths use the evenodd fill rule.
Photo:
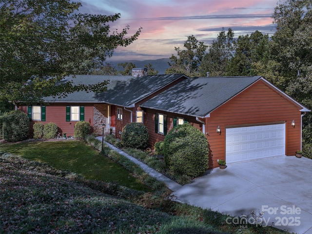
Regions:
<instances>
[{"instance_id":1,"label":"tall tree at right edge, rising behind the garage gable","mask_svg":"<svg viewBox=\"0 0 312 234\"><path fill-rule=\"evenodd\" d=\"M273 19L277 31L272 37L271 59L283 80L279 87L312 109L312 1L280 3L274 9ZM304 154L312 158L311 113L303 118L302 133Z\"/></svg>"}]
</instances>

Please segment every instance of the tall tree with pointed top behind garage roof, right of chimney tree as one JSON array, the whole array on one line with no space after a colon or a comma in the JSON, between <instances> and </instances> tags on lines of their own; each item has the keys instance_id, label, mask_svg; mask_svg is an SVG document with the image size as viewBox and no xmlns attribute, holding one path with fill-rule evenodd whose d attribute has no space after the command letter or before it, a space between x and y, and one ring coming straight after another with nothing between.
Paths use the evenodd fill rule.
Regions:
<instances>
[{"instance_id":1,"label":"tall tree with pointed top behind garage roof, right of chimney tree","mask_svg":"<svg viewBox=\"0 0 312 234\"><path fill-rule=\"evenodd\" d=\"M209 47L209 52L204 56L200 67L200 76L225 76L226 67L234 55L234 32L231 28L226 33L224 28L217 39Z\"/></svg>"}]
</instances>

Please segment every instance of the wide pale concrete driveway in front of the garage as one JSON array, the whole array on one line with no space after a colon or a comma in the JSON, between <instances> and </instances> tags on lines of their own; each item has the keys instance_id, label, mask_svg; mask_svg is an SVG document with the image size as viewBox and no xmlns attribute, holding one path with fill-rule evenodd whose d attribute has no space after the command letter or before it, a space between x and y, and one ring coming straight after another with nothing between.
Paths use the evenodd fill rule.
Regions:
<instances>
[{"instance_id":1,"label":"wide pale concrete driveway in front of the garage","mask_svg":"<svg viewBox=\"0 0 312 234\"><path fill-rule=\"evenodd\" d=\"M274 222L279 229L312 234L311 159L277 156L227 166L208 171L174 195L182 202L228 215L264 211L257 222ZM237 224L235 219L227 222Z\"/></svg>"}]
</instances>

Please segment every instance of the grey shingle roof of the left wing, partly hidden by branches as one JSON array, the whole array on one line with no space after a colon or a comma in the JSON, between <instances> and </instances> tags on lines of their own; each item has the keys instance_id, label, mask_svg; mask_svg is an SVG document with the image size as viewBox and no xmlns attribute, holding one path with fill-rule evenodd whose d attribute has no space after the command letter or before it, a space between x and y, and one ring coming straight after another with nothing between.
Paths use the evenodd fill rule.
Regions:
<instances>
[{"instance_id":1,"label":"grey shingle roof of the left wing, partly hidden by branches","mask_svg":"<svg viewBox=\"0 0 312 234\"><path fill-rule=\"evenodd\" d=\"M75 77L75 78L74 78ZM73 81L74 84L98 84L105 80L109 80L107 90L115 89L121 84L126 85L127 80L134 78L133 76L104 76L104 75L72 75L68 76L61 82ZM64 98L43 98L46 102L101 102L94 92L79 91L67 94Z\"/></svg>"}]
</instances>

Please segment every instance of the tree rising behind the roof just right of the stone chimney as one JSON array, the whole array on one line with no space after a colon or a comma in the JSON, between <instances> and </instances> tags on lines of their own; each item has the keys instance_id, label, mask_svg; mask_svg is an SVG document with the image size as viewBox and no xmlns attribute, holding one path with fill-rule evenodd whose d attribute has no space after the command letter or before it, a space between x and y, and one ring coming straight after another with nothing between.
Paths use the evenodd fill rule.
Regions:
<instances>
[{"instance_id":1,"label":"tree rising behind the roof just right of the stone chimney","mask_svg":"<svg viewBox=\"0 0 312 234\"><path fill-rule=\"evenodd\" d=\"M165 74L185 74L190 77L198 76L198 68L205 55L207 45L198 41L193 35L184 42L185 50L175 47L177 56L172 55L169 62L170 68Z\"/></svg>"}]
</instances>

